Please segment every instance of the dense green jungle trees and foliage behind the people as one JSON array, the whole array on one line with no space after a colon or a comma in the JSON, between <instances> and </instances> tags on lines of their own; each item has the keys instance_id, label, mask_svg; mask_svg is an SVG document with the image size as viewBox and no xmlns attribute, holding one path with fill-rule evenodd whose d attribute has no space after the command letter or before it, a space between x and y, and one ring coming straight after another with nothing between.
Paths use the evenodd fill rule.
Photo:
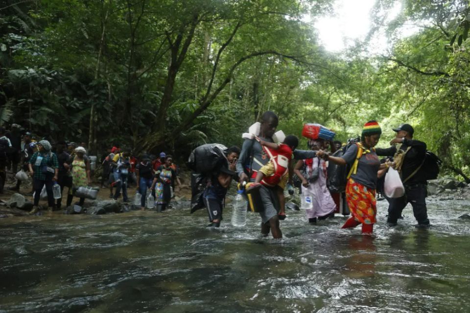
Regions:
<instances>
[{"instance_id":1,"label":"dense green jungle trees and foliage behind the people","mask_svg":"<svg viewBox=\"0 0 470 313\"><path fill-rule=\"evenodd\" d=\"M331 0L3 0L1 123L94 153L117 141L186 156L239 145L266 110L286 134L317 122L343 141L376 119L381 146L407 122L470 182L469 3L403 0L389 21L395 2L377 0L368 39L335 54L313 27ZM407 23L420 31L400 38ZM378 31L383 55L367 49Z\"/></svg>"}]
</instances>

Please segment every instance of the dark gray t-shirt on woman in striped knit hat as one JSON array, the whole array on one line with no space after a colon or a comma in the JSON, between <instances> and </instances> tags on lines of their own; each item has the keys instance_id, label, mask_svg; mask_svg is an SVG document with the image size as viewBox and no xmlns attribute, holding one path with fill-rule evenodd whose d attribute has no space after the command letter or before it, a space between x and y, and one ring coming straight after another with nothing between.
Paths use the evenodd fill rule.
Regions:
<instances>
[{"instance_id":1,"label":"dark gray t-shirt on woman in striped knit hat","mask_svg":"<svg viewBox=\"0 0 470 313\"><path fill-rule=\"evenodd\" d=\"M357 157L357 145L352 144L342 158L348 163L348 166L352 166L354 160ZM377 172L380 168L380 160L378 159L375 151L363 154L359 158L357 164L356 174L352 174L351 178L355 182L360 183L371 189L376 189L377 185Z\"/></svg>"}]
</instances>

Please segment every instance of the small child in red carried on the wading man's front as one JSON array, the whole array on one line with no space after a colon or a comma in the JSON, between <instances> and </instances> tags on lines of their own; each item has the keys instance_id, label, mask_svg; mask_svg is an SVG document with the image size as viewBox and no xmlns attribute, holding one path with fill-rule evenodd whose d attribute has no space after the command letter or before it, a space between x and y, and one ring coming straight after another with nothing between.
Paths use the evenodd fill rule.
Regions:
<instances>
[{"instance_id":1,"label":"small child in red carried on the wading man's front","mask_svg":"<svg viewBox=\"0 0 470 313\"><path fill-rule=\"evenodd\" d=\"M285 219L285 199L284 188L288 181L292 179L292 166L290 161L292 153L299 145L299 138L295 135L285 137L283 143L272 143L256 137L266 154L270 157L268 163L261 167L257 173L255 182L247 189L247 193L259 189L261 185L276 188L279 198L280 212L279 219Z\"/></svg>"}]
</instances>

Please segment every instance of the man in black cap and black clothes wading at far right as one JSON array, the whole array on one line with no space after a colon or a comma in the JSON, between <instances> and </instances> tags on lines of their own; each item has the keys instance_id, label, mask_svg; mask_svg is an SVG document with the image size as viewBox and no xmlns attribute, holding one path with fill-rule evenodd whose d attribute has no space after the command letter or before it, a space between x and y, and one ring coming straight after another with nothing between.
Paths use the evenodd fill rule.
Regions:
<instances>
[{"instance_id":1,"label":"man in black cap and black clothes wading at far right","mask_svg":"<svg viewBox=\"0 0 470 313\"><path fill-rule=\"evenodd\" d=\"M413 214L418 227L429 227L426 208L426 175L422 168L426 157L426 144L423 141L414 140L414 129L409 124L401 124L393 129L397 136L390 141L392 147L388 149L376 149L378 156L394 156L397 162L402 153L402 163L397 167L401 181L405 187L405 195L400 198L389 198L387 224L396 226L401 212L406 204L411 203ZM398 153L397 153L398 152Z\"/></svg>"}]
</instances>

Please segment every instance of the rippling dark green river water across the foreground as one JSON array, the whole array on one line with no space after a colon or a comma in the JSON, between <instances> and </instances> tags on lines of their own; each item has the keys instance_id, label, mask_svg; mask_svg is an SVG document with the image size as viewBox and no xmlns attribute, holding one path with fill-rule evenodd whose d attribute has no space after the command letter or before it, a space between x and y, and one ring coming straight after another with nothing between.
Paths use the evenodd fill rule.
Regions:
<instances>
[{"instance_id":1,"label":"rippling dark green river water across the foreground","mask_svg":"<svg viewBox=\"0 0 470 313\"><path fill-rule=\"evenodd\" d=\"M260 238L230 207L218 230L187 209L1 219L0 312L470 312L470 203L428 201L430 229L386 205L372 237L288 211Z\"/></svg>"}]
</instances>

